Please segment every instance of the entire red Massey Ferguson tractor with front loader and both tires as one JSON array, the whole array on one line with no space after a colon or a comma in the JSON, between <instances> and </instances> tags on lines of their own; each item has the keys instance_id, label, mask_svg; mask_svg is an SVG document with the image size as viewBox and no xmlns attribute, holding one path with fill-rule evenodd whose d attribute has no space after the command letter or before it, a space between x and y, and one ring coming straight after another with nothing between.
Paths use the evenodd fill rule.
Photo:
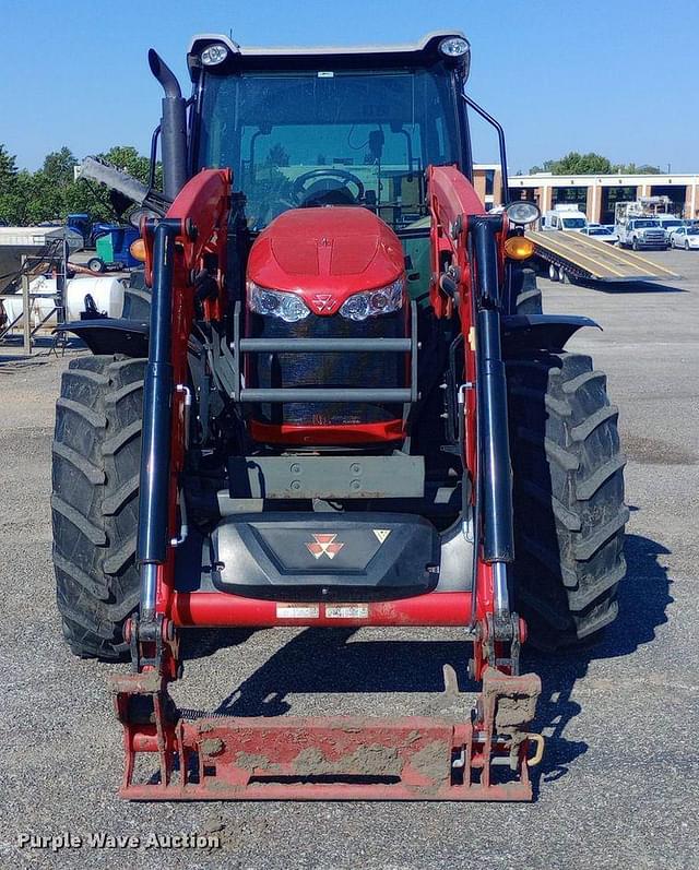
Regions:
<instances>
[{"instance_id":1,"label":"entire red Massey Ferguson tractor with front loader and both tires","mask_svg":"<svg viewBox=\"0 0 699 870\"><path fill-rule=\"evenodd\" d=\"M111 680L127 798L528 800L521 645L616 616L617 409L564 350L595 324L541 312L536 207L475 193L467 110L498 131L505 191L507 162L469 57L458 33L197 37L186 118L150 53L171 201L142 223L150 322L71 325L98 355L67 370L54 444L66 637L132 660ZM455 718L176 708L181 628L275 625L461 627L483 688Z\"/></svg>"}]
</instances>

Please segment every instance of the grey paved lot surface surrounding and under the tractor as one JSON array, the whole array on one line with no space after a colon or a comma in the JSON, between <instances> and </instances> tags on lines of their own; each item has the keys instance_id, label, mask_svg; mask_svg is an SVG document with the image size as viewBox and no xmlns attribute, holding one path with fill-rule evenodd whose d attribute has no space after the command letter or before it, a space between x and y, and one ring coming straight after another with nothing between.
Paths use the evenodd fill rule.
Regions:
<instances>
[{"instance_id":1,"label":"grey paved lot surface surrounding and under the tractor","mask_svg":"<svg viewBox=\"0 0 699 870\"><path fill-rule=\"evenodd\" d=\"M110 667L69 655L54 601L49 452L68 357L0 357L0 867L697 868L699 253L648 255L686 279L608 291L542 281L548 311L604 327L574 346L594 354L620 407L631 520L623 615L602 645L526 655L548 737L531 806L120 801ZM265 715L420 712L442 663L463 670L467 656L458 631L210 632L185 647L178 702ZM216 831L222 847L17 847L21 833L63 831Z\"/></svg>"}]
</instances>

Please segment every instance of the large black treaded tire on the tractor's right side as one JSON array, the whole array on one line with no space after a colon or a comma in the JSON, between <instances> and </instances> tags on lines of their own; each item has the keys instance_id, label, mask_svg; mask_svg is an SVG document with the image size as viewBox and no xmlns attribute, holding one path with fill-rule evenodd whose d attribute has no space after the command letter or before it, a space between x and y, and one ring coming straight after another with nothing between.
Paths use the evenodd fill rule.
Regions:
<instances>
[{"instance_id":1,"label":"large black treaded tire on the tractor's right side","mask_svg":"<svg viewBox=\"0 0 699 870\"><path fill-rule=\"evenodd\" d=\"M629 515L618 409L582 354L532 354L507 373L514 599L534 646L570 646L618 611Z\"/></svg>"}]
</instances>

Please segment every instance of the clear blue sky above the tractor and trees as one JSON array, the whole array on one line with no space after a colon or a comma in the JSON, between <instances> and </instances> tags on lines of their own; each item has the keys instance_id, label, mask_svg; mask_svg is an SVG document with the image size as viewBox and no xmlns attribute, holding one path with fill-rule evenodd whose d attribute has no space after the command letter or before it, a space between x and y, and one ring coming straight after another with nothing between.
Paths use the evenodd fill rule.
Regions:
<instances>
[{"instance_id":1,"label":"clear blue sky above the tractor and trees","mask_svg":"<svg viewBox=\"0 0 699 870\"><path fill-rule=\"evenodd\" d=\"M36 168L68 145L147 153L159 115L152 46L187 84L192 34L248 45L472 45L471 93L505 126L510 171L568 151L699 171L699 3L665 0L0 0L0 142ZM497 155L475 134L475 157Z\"/></svg>"}]
</instances>

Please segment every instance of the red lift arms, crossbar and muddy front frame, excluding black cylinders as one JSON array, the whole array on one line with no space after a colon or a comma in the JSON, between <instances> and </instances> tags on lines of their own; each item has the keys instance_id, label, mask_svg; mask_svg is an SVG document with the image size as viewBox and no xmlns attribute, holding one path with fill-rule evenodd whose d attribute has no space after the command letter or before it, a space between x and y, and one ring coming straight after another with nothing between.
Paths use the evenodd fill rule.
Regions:
<instances>
[{"instance_id":1,"label":"red lift arms, crossbar and muddy front frame, excluding black cylinders","mask_svg":"<svg viewBox=\"0 0 699 870\"><path fill-rule=\"evenodd\" d=\"M484 208L473 187L454 167L430 167L427 175L431 222L433 285L437 317L457 311L464 336L465 464L477 479L478 402L473 389L476 357L477 274L470 242L474 221ZM189 181L173 203L166 221L174 235L174 262L156 260L156 224L144 226L146 275L152 286L171 275L173 368L170 457L167 475L167 540L178 528L178 476L186 444L187 341L193 318L193 287L205 266L215 278L218 297L208 301L205 315L221 317L224 299L225 246L230 195L228 170L204 170ZM502 279L506 218L497 231L498 279ZM471 251L471 252L470 252ZM491 277L491 276L490 276ZM146 392L147 396L147 392ZM477 487L474 504L478 504ZM121 795L131 799L402 799L529 800L529 767L537 763L543 738L528 727L541 692L535 675L517 675L524 625L509 615L502 633L496 612L495 565L486 559L476 526L474 593L428 593L414 598L370 603L366 616L328 619L324 605L308 619L280 616L277 603L227 593L180 593L175 589L175 551L153 560L153 618L128 625L138 672L115 677L111 689L123 726L126 773ZM497 553L495 555L497 557ZM145 603L146 609L150 601ZM143 616L144 601L141 603ZM355 611L356 613L356 611ZM179 674L179 627L273 625L463 625L474 644L472 675L483 680L473 710L459 722L442 718L323 717L182 719L167 684ZM532 747L535 751L532 756ZM137 756L150 755L154 766L137 777Z\"/></svg>"}]
</instances>

